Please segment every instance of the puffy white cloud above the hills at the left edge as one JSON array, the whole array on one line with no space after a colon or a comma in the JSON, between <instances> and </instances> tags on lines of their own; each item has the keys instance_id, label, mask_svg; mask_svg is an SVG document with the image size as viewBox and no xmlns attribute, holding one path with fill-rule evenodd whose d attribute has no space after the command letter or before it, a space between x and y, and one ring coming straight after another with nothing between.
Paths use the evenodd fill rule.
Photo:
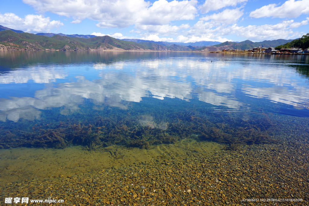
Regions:
<instances>
[{"instance_id":1,"label":"puffy white cloud above the hills at the left edge","mask_svg":"<svg viewBox=\"0 0 309 206\"><path fill-rule=\"evenodd\" d=\"M63 26L60 21L50 21L49 17L45 18L42 15L28 14L23 19L13 13L0 14L0 24L30 33L49 32L51 29Z\"/></svg>"}]
</instances>

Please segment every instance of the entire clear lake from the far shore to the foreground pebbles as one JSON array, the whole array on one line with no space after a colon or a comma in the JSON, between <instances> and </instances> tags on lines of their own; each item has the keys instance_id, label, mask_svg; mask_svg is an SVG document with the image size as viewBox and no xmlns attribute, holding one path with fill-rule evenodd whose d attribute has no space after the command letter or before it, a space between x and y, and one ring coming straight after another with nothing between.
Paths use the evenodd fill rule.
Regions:
<instances>
[{"instance_id":1,"label":"entire clear lake from the far shore to the foreground pebbles","mask_svg":"<svg viewBox=\"0 0 309 206\"><path fill-rule=\"evenodd\" d=\"M174 179L195 175L196 184L171 183L184 194L188 188L189 195L203 193L199 201L193 197L195 204L235 205L243 198L292 193L308 201L308 64L307 55L0 51L0 183L13 183L8 194L34 181L16 195L36 197L45 194L40 184L55 179L110 183L113 173L119 176L115 190L124 186L124 176L135 175L128 188L138 185L143 194L127 194L145 198L149 187L158 198L153 188L162 183L150 187L148 168L176 171ZM105 192L104 181L95 183ZM238 200L233 194L239 187L231 182L242 188ZM269 189L274 185L286 193L276 196ZM173 190L159 190L167 192L167 204L177 199ZM230 199L207 190L224 191ZM92 202L141 203L129 196L121 201L121 195L117 202L115 195L92 196ZM154 203L150 199L143 201Z\"/></svg>"}]
</instances>

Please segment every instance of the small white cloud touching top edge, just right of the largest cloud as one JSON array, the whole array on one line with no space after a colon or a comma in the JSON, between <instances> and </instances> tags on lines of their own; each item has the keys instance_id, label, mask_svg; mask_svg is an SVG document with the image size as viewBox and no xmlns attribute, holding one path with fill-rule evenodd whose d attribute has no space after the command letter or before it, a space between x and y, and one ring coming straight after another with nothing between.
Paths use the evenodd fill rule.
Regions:
<instances>
[{"instance_id":1,"label":"small white cloud touching top edge, just right of the largest cloud","mask_svg":"<svg viewBox=\"0 0 309 206\"><path fill-rule=\"evenodd\" d=\"M248 0L206 0L200 7L201 13L205 14L209 11L216 11L226 6L236 6L239 3L247 2Z\"/></svg>"}]
</instances>

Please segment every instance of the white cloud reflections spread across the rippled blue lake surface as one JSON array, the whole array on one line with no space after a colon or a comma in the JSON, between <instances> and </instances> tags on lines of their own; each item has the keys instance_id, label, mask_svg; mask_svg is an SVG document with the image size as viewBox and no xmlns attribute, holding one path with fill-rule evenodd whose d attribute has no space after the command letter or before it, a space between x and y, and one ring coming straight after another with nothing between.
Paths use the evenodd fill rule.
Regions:
<instances>
[{"instance_id":1,"label":"white cloud reflections spread across the rippled blue lake surface","mask_svg":"<svg viewBox=\"0 0 309 206\"><path fill-rule=\"evenodd\" d=\"M107 57L102 53L85 53L89 57L93 55L96 60L87 62L87 58L83 59L79 53L76 56L72 53L64 54L72 57L71 61L74 59L74 65L79 65L78 71L86 78L75 76L77 82L66 80L66 83L57 84L57 87L37 90L34 97L0 99L0 120L16 122L19 118L39 119L40 110L53 107L63 107L60 113L67 115L78 111L79 104L85 98L96 105L96 110L101 110L102 105L125 110L128 108L127 102L140 102L146 96L186 101L197 98L235 111L254 104L254 101L243 102L245 95L300 108L308 106L309 102L307 86L302 85L293 70L282 69L280 61L277 62L277 57L273 56L273 59L256 56L247 61L248 58L217 54L193 56L173 53L170 58L166 58L166 54L162 53L107 53ZM81 57L80 62L77 57ZM99 57L102 58L98 60ZM210 59L214 62L211 63ZM49 64L49 67L53 67L53 64ZM66 74L61 72L63 67L42 68L8 72L0 76L0 83L22 83L28 79L45 83L56 78L66 78ZM99 79L87 80L87 74Z\"/></svg>"}]
</instances>

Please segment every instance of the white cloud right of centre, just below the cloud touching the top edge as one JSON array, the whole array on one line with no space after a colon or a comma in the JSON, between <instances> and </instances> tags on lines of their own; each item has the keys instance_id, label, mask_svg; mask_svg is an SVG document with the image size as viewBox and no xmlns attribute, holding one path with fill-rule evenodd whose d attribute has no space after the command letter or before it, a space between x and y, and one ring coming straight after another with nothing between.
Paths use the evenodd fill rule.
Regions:
<instances>
[{"instance_id":1,"label":"white cloud right of centre, just below the cloud touching the top edge","mask_svg":"<svg viewBox=\"0 0 309 206\"><path fill-rule=\"evenodd\" d=\"M200 18L200 20L213 20L215 23L232 24L235 23L243 15L243 10L240 8L226 9L220 13L208 15Z\"/></svg>"}]
</instances>

